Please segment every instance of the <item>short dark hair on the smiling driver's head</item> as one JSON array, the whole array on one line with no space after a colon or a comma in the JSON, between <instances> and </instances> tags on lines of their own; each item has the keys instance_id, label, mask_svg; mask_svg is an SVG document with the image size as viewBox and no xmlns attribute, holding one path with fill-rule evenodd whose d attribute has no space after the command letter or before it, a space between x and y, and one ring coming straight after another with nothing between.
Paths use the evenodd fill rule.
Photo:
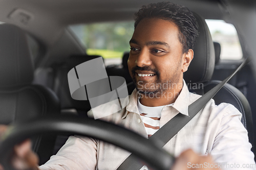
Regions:
<instances>
[{"instance_id":1,"label":"short dark hair on the smiling driver's head","mask_svg":"<svg viewBox=\"0 0 256 170\"><path fill-rule=\"evenodd\" d=\"M134 15L136 28L144 18L161 18L174 22L179 28L179 40L183 53L194 49L198 36L198 25L195 16L188 8L170 2L161 2L142 6Z\"/></svg>"}]
</instances>

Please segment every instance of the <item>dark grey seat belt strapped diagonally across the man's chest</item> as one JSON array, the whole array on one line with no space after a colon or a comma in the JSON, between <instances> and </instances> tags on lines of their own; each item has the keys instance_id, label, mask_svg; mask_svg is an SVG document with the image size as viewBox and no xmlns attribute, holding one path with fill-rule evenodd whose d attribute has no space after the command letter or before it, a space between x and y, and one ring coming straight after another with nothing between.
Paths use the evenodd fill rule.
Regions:
<instances>
[{"instance_id":1,"label":"dark grey seat belt strapped diagonally across the man's chest","mask_svg":"<svg viewBox=\"0 0 256 170\"><path fill-rule=\"evenodd\" d=\"M181 113L177 114L147 140L154 143L157 142L159 147L162 148L209 102L211 98L215 96L215 94L237 73L237 71L248 63L247 60L248 57L229 77L202 95L201 98L190 104L188 106L189 116ZM142 166L144 166L143 162L139 161L134 154L131 154L121 163L117 170L139 170Z\"/></svg>"}]
</instances>

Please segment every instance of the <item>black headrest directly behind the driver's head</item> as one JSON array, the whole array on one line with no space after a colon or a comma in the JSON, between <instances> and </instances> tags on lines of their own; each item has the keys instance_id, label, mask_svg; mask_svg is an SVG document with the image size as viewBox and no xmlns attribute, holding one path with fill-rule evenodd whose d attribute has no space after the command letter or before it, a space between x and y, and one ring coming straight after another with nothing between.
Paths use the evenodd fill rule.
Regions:
<instances>
[{"instance_id":1,"label":"black headrest directly behind the driver's head","mask_svg":"<svg viewBox=\"0 0 256 170\"><path fill-rule=\"evenodd\" d=\"M206 82L211 79L215 67L214 43L204 18L193 13L198 22L199 36L197 37L194 59L184 73L186 83Z\"/></svg>"}]
</instances>

